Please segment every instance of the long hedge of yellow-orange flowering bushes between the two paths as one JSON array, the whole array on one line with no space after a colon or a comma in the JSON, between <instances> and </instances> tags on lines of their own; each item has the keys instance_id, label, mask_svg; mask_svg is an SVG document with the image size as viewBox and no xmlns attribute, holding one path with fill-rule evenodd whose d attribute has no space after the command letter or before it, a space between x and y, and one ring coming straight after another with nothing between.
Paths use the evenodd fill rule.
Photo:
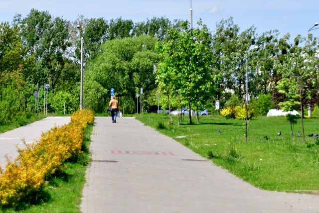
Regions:
<instances>
[{"instance_id":1,"label":"long hedge of yellow-orange flowering bushes between the two paths","mask_svg":"<svg viewBox=\"0 0 319 213\"><path fill-rule=\"evenodd\" d=\"M71 122L54 126L42 133L39 141L18 148L18 157L0 169L0 205L18 204L31 193L41 190L47 182L45 177L62 170L63 163L81 154L84 130L93 123L94 114L89 109L76 111Z\"/></svg>"}]
</instances>

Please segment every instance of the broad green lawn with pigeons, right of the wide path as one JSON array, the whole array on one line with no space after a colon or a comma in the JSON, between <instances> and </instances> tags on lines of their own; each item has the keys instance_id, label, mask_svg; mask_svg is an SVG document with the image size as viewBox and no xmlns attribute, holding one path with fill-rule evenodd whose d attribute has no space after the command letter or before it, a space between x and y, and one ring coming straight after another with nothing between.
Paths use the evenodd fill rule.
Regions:
<instances>
[{"instance_id":1,"label":"broad green lawn with pigeons, right of the wide path","mask_svg":"<svg viewBox=\"0 0 319 213\"><path fill-rule=\"evenodd\" d=\"M266 190L317 193L319 191L319 145L308 134L319 134L319 119L305 119L306 143L297 136L301 121L291 135L285 117L258 117L249 121L245 141L245 120L219 115L201 116L189 125L188 117L177 126L168 125L166 115L138 115L137 119L156 128L214 164ZM218 132L218 129L221 132ZM282 131L281 136L277 132ZM319 141L318 141L319 142Z\"/></svg>"}]
</instances>

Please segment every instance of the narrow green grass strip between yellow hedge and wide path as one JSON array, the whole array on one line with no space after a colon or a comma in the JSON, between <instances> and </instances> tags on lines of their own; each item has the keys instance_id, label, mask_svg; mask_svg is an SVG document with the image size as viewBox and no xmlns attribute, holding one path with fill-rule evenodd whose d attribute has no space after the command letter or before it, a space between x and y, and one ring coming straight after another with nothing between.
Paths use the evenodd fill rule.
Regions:
<instances>
[{"instance_id":1,"label":"narrow green grass strip between yellow hedge and wide path","mask_svg":"<svg viewBox=\"0 0 319 213\"><path fill-rule=\"evenodd\" d=\"M76 160L65 163L63 172L48 178L49 184L34 203L21 204L17 209L0 209L3 213L80 213L82 189L85 182L86 166L89 163L89 145L93 125L88 125L85 135L84 153Z\"/></svg>"}]
</instances>

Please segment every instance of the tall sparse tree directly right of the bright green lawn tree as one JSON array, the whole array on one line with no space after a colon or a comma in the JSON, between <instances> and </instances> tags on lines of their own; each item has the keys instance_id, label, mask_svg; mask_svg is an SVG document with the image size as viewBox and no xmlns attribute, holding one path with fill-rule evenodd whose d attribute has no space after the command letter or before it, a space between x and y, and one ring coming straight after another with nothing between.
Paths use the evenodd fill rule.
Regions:
<instances>
[{"instance_id":1,"label":"tall sparse tree directly right of the bright green lawn tree","mask_svg":"<svg viewBox=\"0 0 319 213\"><path fill-rule=\"evenodd\" d=\"M233 18L221 20L216 24L216 33L213 34L212 51L216 56L213 69L218 73L217 99L227 100L225 93L233 91L238 97L244 97L246 82L246 58L249 57L249 68L255 70L257 59L255 51L248 51L251 45L255 45L256 28L250 28L239 32L240 28L234 23ZM249 72L249 87L254 72Z\"/></svg>"}]
</instances>

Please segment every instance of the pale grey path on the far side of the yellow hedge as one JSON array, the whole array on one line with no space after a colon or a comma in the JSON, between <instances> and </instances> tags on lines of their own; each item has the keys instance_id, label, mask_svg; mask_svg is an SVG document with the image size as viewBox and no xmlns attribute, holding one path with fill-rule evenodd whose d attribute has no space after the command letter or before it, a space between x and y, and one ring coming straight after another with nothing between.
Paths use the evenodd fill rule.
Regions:
<instances>
[{"instance_id":1,"label":"pale grey path on the far side of the yellow hedge","mask_svg":"<svg viewBox=\"0 0 319 213\"><path fill-rule=\"evenodd\" d=\"M41 133L54 126L62 126L71 121L70 116L46 117L25 126L0 134L0 166L2 169L7 164L6 157L14 160L18 156L17 147L25 148L23 141L34 143L41 138Z\"/></svg>"}]
</instances>

